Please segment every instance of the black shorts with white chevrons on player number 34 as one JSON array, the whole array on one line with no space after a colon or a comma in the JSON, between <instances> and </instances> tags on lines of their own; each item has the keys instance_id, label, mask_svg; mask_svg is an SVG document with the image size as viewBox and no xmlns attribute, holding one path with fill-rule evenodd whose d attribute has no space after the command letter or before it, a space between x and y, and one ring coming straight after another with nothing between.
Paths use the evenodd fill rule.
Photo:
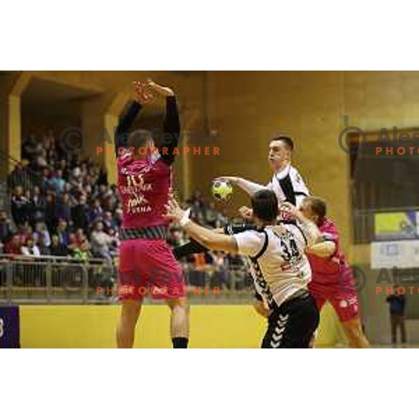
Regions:
<instances>
[{"instance_id":1,"label":"black shorts with white chevrons on player number 34","mask_svg":"<svg viewBox=\"0 0 419 419\"><path fill-rule=\"evenodd\" d=\"M262 348L309 348L320 316L309 293L281 304L268 318Z\"/></svg>"}]
</instances>

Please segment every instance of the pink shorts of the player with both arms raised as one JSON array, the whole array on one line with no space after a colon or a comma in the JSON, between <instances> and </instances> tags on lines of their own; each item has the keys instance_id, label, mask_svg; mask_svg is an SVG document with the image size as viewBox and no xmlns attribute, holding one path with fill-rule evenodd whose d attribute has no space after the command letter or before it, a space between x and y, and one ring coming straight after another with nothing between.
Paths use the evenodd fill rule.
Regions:
<instances>
[{"instance_id":1,"label":"pink shorts of the player with both arms raised","mask_svg":"<svg viewBox=\"0 0 419 419\"><path fill-rule=\"evenodd\" d=\"M121 300L184 297L185 277L166 240L124 240L119 247L118 295Z\"/></svg>"}]
</instances>

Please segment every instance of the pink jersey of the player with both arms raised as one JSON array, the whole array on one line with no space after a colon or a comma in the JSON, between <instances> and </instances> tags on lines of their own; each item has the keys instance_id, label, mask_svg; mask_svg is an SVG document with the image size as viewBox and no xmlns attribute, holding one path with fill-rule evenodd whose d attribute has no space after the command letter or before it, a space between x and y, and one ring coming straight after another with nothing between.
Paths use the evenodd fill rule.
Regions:
<instances>
[{"instance_id":1,"label":"pink jersey of the player with both arms raised","mask_svg":"<svg viewBox=\"0 0 419 419\"><path fill-rule=\"evenodd\" d=\"M161 159L117 159L118 191L122 200L122 228L167 226L168 193L172 187L172 169Z\"/></svg>"}]
</instances>

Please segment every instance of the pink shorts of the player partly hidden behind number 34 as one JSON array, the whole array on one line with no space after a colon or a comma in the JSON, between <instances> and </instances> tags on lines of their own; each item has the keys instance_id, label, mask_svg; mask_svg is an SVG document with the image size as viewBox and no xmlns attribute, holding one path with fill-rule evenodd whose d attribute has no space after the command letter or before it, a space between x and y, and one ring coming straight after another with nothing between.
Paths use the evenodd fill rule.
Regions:
<instances>
[{"instance_id":1,"label":"pink shorts of the player partly hidden behind number 34","mask_svg":"<svg viewBox=\"0 0 419 419\"><path fill-rule=\"evenodd\" d=\"M358 318L358 295L355 292L346 292L333 284L328 286L313 282L309 283L309 291L313 295L319 311L323 304L329 301L342 323Z\"/></svg>"}]
</instances>

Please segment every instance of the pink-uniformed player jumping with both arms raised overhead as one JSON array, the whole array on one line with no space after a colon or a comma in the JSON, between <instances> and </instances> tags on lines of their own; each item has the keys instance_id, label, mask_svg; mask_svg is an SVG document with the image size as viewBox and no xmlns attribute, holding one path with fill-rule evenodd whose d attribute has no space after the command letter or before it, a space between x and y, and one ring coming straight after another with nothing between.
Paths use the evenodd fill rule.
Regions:
<instances>
[{"instance_id":1,"label":"pink-uniformed player jumping with both arms raised overhead","mask_svg":"<svg viewBox=\"0 0 419 419\"><path fill-rule=\"evenodd\" d=\"M168 221L163 218L172 189L173 151L180 125L175 94L154 82L135 83L135 101L115 132L118 190L123 220L119 247L119 298L122 316L118 348L132 348L135 325L145 294L168 302L174 348L187 348L189 315L184 296L184 274L166 242ZM129 133L142 105L156 95L166 96L162 145L157 149L149 131Z\"/></svg>"}]
</instances>

